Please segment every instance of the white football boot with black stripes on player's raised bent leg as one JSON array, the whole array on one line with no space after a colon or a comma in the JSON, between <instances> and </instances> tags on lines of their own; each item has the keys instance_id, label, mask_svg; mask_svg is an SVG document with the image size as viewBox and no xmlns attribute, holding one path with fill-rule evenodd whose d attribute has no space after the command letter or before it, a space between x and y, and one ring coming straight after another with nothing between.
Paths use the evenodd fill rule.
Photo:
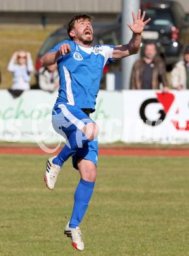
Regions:
<instances>
[{"instance_id":1,"label":"white football boot with black stripes on player's raised bent leg","mask_svg":"<svg viewBox=\"0 0 189 256\"><path fill-rule=\"evenodd\" d=\"M46 162L46 171L44 175L44 182L48 189L52 190L54 189L58 173L60 172L61 167L59 165L55 165L52 163L52 160L56 158L54 156L53 158L49 158Z\"/></svg>"}]
</instances>

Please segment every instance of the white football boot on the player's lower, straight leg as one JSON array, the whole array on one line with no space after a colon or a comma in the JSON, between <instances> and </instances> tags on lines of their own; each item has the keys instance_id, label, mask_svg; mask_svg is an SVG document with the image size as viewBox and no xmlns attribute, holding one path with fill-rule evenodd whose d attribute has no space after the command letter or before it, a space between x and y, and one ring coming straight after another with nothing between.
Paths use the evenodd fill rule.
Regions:
<instances>
[{"instance_id":1,"label":"white football boot on the player's lower, straight leg","mask_svg":"<svg viewBox=\"0 0 189 256\"><path fill-rule=\"evenodd\" d=\"M69 223L67 223L64 234L66 234L68 238L71 238L72 245L75 249L78 249L78 251L82 251L84 249L84 243L82 241L82 234L79 226L77 226L77 228L69 228Z\"/></svg>"}]
</instances>

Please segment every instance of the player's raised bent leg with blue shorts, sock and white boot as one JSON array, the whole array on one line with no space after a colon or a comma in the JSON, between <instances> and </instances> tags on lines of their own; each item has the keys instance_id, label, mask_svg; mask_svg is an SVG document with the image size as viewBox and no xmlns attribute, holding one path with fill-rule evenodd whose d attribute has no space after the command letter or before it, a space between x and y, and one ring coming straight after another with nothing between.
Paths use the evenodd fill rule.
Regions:
<instances>
[{"instance_id":1,"label":"player's raised bent leg with blue shorts, sock and white boot","mask_svg":"<svg viewBox=\"0 0 189 256\"><path fill-rule=\"evenodd\" d=\"M94 139L99 131L94 121L76 106L61 105L61 108L54 110L52 125L67 139L67 143L58 156L47 161L44 182L49 189L54 189L63 162Z\"/></svg>"}]
</instances>

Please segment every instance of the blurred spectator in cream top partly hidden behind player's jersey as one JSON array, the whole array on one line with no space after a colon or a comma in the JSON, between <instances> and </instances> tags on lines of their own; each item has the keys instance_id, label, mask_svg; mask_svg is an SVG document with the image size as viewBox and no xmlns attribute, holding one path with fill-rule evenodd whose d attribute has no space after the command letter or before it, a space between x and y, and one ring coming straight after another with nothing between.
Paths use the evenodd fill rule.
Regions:
<instances>
[{"instance_id":1,"label":"blurred spectator in cream top partly hidden behind player's jersey","mask_svg":"<svg viewBox=\"0 0 189 256\"><path fill-rule=\"evenodd\" d=\"M43 67L39 70L39 87L52 93L59 87L59 75L57 64Z\"/></svg>"}]
</instances>

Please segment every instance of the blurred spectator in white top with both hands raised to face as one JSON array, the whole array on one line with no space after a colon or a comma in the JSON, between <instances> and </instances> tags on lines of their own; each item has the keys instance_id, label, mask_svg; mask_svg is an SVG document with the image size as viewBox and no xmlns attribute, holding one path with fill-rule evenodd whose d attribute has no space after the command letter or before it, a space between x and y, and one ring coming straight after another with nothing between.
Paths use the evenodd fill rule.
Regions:
<instances>
[{"instance_id":1,"label":"blurred spectator in white top with both hands raised to face","mask_svg":"<svg viewBox=\"0 0 189 256\"><path fill-rule=\"evenodd\" d=\"M31 54L25 51L19 51L12 55L9 65L9 72L13 74L12 89L29 90L31 81L31 72L33 72L33 63Z\"/></svg>"}]
</instances>

